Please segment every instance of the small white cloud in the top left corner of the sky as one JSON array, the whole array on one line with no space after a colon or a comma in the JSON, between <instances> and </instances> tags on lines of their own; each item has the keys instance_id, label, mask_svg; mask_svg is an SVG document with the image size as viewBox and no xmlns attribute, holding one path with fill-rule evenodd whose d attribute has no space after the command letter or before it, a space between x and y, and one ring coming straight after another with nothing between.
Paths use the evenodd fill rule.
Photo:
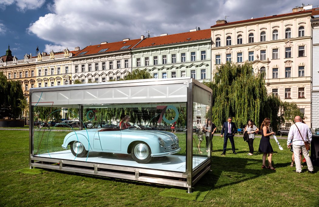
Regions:
<instances>
[{"instance_id":1,"label":"small white cloud in the top left corner of the sky","mask_svg":"<svg viewBox=\"0 0 319 207\"><path fill-rule=\"evenodd\" d=\"M18 11L35 10L40 8L45 0L1 0L0 7L5 9L6 6L16 4Z\"/></svg>"}]
</instances>

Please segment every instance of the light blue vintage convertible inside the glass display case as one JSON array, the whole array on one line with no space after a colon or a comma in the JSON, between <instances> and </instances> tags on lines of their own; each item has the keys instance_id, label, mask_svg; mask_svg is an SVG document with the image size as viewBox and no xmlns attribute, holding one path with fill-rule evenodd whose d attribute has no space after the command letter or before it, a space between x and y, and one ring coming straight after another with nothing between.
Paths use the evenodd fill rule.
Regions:
<instances>
[{"instance_id":1,"label":"light blue vintage convertible inside the glass display case","mask_svg":"<svg viewBox=\"0 0 319 207\"><path fill-rule=\"evenodd\" d=\"M62 147L77 157L88 152L131 153L138 163L148 163L152 157L161 157L181 150L177 136L171 132L141 130L137 125L127 129L99 128L74 131L67 134Z\"/></svg>"}]
</instances>

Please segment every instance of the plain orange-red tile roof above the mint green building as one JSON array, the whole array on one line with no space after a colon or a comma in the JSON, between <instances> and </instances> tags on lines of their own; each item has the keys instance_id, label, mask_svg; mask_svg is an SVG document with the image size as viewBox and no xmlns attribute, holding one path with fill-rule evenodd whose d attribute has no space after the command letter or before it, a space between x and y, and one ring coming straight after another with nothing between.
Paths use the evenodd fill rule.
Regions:
<instances>
[{"instance_id":1,"label":"plain orange-red tile roof above the mint green building","mask_svg":"<svg viewBox=\"0 0 319 207\"><path fill-rule=\"evenodd\" d=\"M210 39L210 38L211 38L210 29L199 30L194 32L183 32L183 33L171 34L166 36L145 38L142 42L140 42L134 48L167 45L167 44L174 44L174 43L180 43L180 42L190 42L190 41Z\"/></svg>"}]
</instances>

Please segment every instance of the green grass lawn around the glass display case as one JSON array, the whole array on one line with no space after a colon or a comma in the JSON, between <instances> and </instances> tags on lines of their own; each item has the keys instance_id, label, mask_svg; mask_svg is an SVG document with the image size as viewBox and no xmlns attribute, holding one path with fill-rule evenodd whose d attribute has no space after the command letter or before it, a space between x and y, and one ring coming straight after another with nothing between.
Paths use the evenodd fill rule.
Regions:
<instances>
[{"instance_id":1,"label":"green grass lawn around the glass display case","mask_svg":"<svg viewBox=\"0 0 319 207\"><path fill-rule=\"evenodd\" d=\"M62 139L63 135L55 136ZM223 138L214 136L212 171L197 183L211 190L203 202L197 202L159 196L166 189L176 188L167 185L55 170L38 175L18 173L15 170L28 167L29 132L0 130L0 137L0 206L319 205L319 168L315 167L315 174L294 173L295 168L289 167L292 154L285 148L284 139L279 140L282 151L271 140L273 166L277 169L273 171L261 169L262 154L256 152L260 138L255 139L253 156L247 155L248 144L242 137L235 137L237 155L232 154L228 142L226 156L220 156Z\"/></svg>"}]
</instances>

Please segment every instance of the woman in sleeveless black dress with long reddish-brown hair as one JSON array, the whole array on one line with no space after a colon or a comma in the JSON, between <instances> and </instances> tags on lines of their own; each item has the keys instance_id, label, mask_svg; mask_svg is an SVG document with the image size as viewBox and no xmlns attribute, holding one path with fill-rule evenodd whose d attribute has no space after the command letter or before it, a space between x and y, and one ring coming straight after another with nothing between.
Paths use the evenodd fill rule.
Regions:
<instances>
[{"instance_id":1,"label":"woman in sleeveless black dress with long reddish-brown hair","mask_svg":"<svg viewBox=\"0 0 319 207\"><path fill-rule=\"evenodd\" d=\"M272 153L274 151L273 151L271 144L270 144L270 135L274 134L275 132L270 132L269 126L270 126L270 118L265 118L263 120L263 123L260 126L262 137L260 139L258 151L263 153L263 165L261 166L261 168L262 169L266 168L266 157L268 154L268 167L267 168L271 169L271 170L276 170L271 165Z\"/></svg>"}]
</instances>

